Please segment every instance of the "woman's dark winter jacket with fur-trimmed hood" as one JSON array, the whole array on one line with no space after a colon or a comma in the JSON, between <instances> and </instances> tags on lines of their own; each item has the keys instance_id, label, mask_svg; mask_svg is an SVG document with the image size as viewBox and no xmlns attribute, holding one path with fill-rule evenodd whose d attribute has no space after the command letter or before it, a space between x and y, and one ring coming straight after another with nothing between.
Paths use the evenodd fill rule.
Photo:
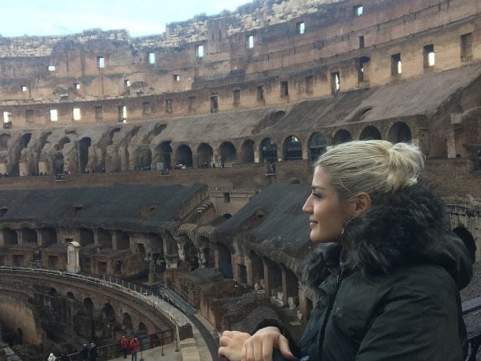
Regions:
<instances>
[{"instance_id":1,"label":"woman's dark winter jacket with fur-trimmed hood","mask_svg":"<svg viewBox=\"0 0 481 361\"><path fill-rule=\"evenodd\" d=\"M348 224L342 246L309 256L303 282L320 301L291 347L316 361L462 361L459 290L471 275L469 253L432 188L382 197Z\"/></svg>"}]
</instances>

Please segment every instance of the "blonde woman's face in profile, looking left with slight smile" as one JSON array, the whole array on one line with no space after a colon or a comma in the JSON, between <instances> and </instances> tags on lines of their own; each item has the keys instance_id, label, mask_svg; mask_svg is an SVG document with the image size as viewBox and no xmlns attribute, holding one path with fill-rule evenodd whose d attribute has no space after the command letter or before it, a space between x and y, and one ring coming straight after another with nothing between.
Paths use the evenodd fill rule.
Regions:
<instances>
[{"instance_id":1,"label":"blonde woman's face in profile, looking left with slight smile","mask_svg":"<svg viewBox=\"0 0 481 361\"><path fill-rule=\"evenodd\" d=\"M302 210L309 215L313 242L337 242L343 225L352 217L348 203L339 201L329 176L320 166L315 167L312 192Z\"/></svg>"}]
</instances>

